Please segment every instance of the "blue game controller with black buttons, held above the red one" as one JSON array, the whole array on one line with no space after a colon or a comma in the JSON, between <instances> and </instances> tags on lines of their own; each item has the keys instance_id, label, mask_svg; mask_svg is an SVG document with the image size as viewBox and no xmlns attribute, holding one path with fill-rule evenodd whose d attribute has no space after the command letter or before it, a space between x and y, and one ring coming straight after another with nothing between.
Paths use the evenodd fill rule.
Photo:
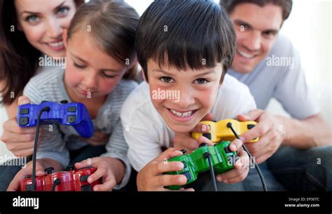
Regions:
<instances>
[{"instance_id":1,"label":"blue game controller with black buttons, held above the red one","mask_svg":"<svg viewBox=\"0 0 332 214\"><path fill-rule=\"evenodd\" d=\"M83 138L91 138L94 133L93 123L88 109L81 102L60 103L43 101L39 105L25 104L18 107L18 125L20 127L36 126L39 112L44 107L48 112L41 114L41 123L60 123L73 126Z\"/></svg>"}]
</instances>

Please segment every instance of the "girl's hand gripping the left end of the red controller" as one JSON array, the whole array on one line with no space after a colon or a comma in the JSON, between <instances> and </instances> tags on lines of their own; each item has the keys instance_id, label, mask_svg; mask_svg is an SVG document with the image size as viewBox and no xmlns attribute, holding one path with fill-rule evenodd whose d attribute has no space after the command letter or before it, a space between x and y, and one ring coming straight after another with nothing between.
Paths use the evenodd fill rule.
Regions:
<instances>
[{"instance_id":1,"label":"girl's hand gripping the left end of the red controller","mask_svg":"<svg viewBox=\"0 0 332 214\"><path fill-rule=\"evenodd\" d=\"M11 184L9 184L7 191L19 191L20 190L20 180L24 179L27 175L32 175L32 161L27 163L25 168L22 168L15 175ZM44 167L40 160L36 160L36 176L44 175Z\"/></svg>"}]
</instances>

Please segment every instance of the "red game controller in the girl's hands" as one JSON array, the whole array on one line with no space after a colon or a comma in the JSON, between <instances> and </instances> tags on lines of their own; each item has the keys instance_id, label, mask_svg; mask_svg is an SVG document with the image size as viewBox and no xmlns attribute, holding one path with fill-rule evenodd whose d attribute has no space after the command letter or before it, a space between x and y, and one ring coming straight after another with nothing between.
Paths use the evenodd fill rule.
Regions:
<instances>
[{"instance_id":1,"label":"red game controller in the girl's hands","mask_svg":"<svg viewBox=\"0 0 332 214\"><path fill-rule=\"evenodd\" d=\"M95 173L97 168L85 167L75 169L74 166L67 167L67 171L52 173L53 167L46 168L47 175L36 176L36 188L34 191L93 191L100 180L88 183L88 177ZM20 181L20 191L32 191L31 176Z\"/></svg>"}]
</instances>

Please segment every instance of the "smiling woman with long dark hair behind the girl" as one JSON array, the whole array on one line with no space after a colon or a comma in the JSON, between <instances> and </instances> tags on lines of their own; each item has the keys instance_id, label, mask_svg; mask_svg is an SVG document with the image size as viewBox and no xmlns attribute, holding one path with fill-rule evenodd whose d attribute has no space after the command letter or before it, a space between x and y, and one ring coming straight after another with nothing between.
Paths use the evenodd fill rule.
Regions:
<instances>
[{"instance_id":1,"label":"smiling woman with long dark hair behind the girl","mask_svg":"<svg viewBox=\"0 0 332 214\"><path fill-rule=\"evenodd\" d=\"M6 139L15 142L8 142L7 147L16 156L32 154L31 149L25 150L24 147L31 146L33 140L29 132L35 132L35 128L33 132L29 128L20 130L25 135L18 140L11 138L10 131L6 130L6 127L13 130L18 126L15 118L18 98L32 76L54 68L52 65L44 66L46 60L51 58L48 62L57 62L65 56L62 30L69 27L71 18L83 3L84 0L0 0L0 127L6 121ZM1 153L10 154L4 150L7 149L0 142ZM10 172L1 174L8 175ZM5 190L1 187L0 190Z\"/></svg>"}]
</instances>

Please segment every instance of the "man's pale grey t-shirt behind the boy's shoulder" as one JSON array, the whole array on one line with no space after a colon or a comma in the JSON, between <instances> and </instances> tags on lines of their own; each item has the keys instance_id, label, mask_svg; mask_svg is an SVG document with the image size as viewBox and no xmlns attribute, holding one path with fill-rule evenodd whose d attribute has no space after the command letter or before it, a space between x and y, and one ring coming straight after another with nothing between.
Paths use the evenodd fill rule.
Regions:
<instances>
[{"instance_id":1,"label":"man's pale grey t-shirt behind the boy's shoulder","mask_svg":"<svg viewBox=\"0 0 332 214\"><path fill-rule=\"evenodd\" d=\"M275 98L293 118L305 119L319 113L319 105L305 81L300 56L285 36L277 37L267 58L252 72L240 74L229 69L228 74L249 87L259 109L265 109Z\"/></svg>"}]
</instances>

